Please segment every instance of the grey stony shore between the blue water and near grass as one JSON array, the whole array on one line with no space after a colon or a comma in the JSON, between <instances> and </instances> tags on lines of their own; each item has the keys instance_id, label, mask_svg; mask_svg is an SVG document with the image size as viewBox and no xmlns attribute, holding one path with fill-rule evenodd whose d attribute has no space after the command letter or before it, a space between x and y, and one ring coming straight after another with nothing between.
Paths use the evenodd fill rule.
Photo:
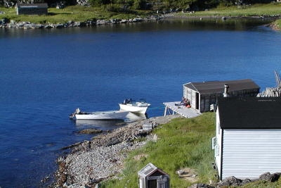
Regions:
<instances>
[{"instance_id":1,"label":"grey stony shore between the blue water and near grass","mask_svg":"<svg viewBox=\"0 0 281 188\"><path fill-rule=\"evenodd\" d=\"M139 149L148 140L157 139L151 130L141 130L144 124L161 125L178 115L160 116L128 123L91 141L79 142L64 149L71 152L58 158L58 170L52 187L94 187L98 182L115 178L122 172L127 152ZM145 137L138 142L138 138Z\"/></svg>"}]
</instances>

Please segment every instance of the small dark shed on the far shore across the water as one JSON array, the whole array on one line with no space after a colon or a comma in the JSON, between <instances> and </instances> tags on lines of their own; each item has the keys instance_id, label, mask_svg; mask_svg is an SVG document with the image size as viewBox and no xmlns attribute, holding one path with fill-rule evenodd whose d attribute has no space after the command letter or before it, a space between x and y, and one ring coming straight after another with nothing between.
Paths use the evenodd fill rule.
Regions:
<instances>
[{"instance_id":1,"label":"small dark shed on the far shore across the water","mask_svg":"<svg viewBox=\"0 0 281 188\"><path fill-rule=\"evenodd\" d=\"M47 15L48 4L16 4L17 15Z\"/></svg>"}]
</instances>

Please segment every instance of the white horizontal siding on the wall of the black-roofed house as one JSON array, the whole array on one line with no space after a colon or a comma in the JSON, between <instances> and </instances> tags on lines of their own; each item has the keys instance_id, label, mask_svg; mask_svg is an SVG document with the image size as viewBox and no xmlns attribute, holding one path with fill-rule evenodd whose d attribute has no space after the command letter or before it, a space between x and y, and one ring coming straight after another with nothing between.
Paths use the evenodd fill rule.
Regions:
<instances>
[{"instance_id":1,"label":"white horizontal siding on the wall of the black-roofed house","mask_svg":"<svg viewBox=\"0 0 281 188\"><path fill-rule=\"evenodd\" d=\"M221 180L230 176L254 179L266 172L280 172L281 130L223 129L222 153Z\"/></svg>"}]
</instances>

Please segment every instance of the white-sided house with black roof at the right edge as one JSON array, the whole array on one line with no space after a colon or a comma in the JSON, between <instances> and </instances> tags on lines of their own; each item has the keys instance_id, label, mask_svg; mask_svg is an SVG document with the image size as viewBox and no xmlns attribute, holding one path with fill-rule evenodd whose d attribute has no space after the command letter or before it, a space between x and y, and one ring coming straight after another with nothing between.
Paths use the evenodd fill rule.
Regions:
<instances>
[{"instance_id":1,"label":"white-sided house with black roof at the right edge","mask_svg":"<svg viewBox=\"0 0 281 188\"><path fill-rule=\"evenodd\" d=\"M281 170L281 98L219 98L213 149L220 180Z\"/></svg>"}]
</instances>

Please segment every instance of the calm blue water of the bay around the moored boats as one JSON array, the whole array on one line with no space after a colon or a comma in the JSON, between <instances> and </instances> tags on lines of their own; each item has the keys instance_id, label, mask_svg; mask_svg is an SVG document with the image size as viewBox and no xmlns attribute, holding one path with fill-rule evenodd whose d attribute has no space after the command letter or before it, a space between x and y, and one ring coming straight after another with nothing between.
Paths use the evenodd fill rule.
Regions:
<instances>
[{"instance_id":1,"label":"calm blue water of the bay around the moored boats","mask_svg":"<svg viewBox=\"0 0 281 188\"><path fill-rule=\"evenodd\" d=\"M166 20L60 30L0 30L0 187L44 187L64 146L90 139L68 115L145 98L163 115L183 84L251 78L275 86L281 32L268 20Z\"/></svg>"}]
</instances>

